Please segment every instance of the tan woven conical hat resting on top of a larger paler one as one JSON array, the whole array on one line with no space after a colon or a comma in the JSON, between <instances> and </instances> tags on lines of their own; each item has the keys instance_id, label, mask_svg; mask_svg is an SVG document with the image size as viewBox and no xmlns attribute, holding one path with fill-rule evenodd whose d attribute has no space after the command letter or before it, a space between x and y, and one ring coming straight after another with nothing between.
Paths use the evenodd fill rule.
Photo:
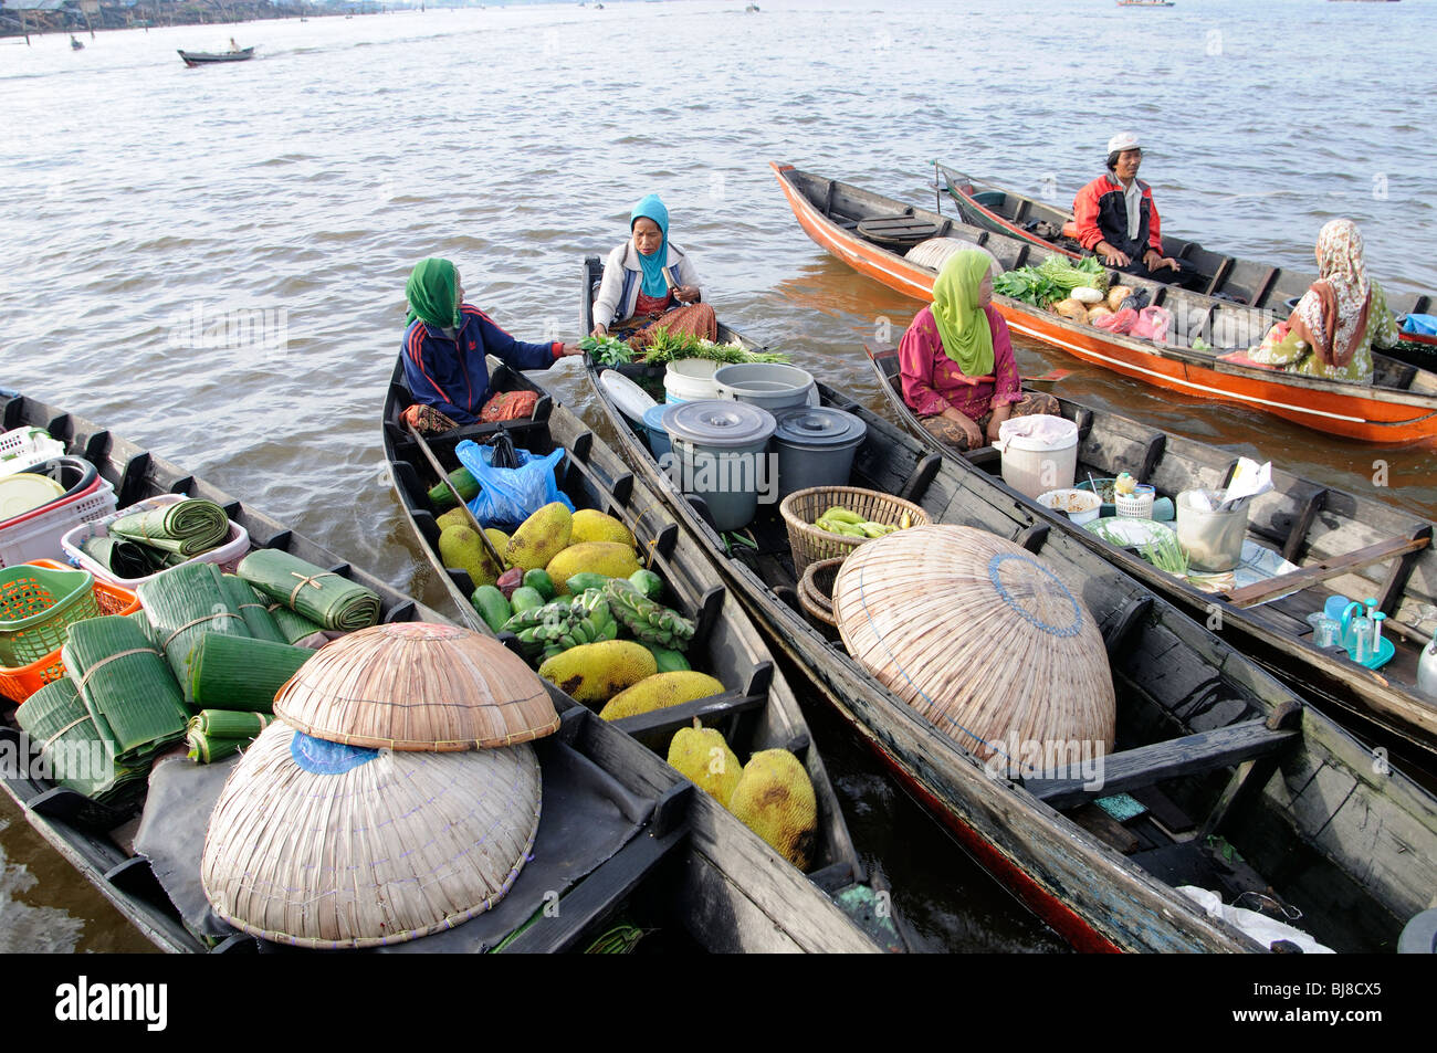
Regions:
<instances>
[{"instance_id":1,"label":"tan woven conical hat resting on top of a larger paler one","mask_svg":"<svg viewBox=\"0 0 1437 1053\"><path fill-rule=\"evenodd\" d=\"M481 634L427 622L336 639L279 690L274 714L316 738L389 750L513 746L559 728L522 658Z\"/></svg>"}]
</instances>

